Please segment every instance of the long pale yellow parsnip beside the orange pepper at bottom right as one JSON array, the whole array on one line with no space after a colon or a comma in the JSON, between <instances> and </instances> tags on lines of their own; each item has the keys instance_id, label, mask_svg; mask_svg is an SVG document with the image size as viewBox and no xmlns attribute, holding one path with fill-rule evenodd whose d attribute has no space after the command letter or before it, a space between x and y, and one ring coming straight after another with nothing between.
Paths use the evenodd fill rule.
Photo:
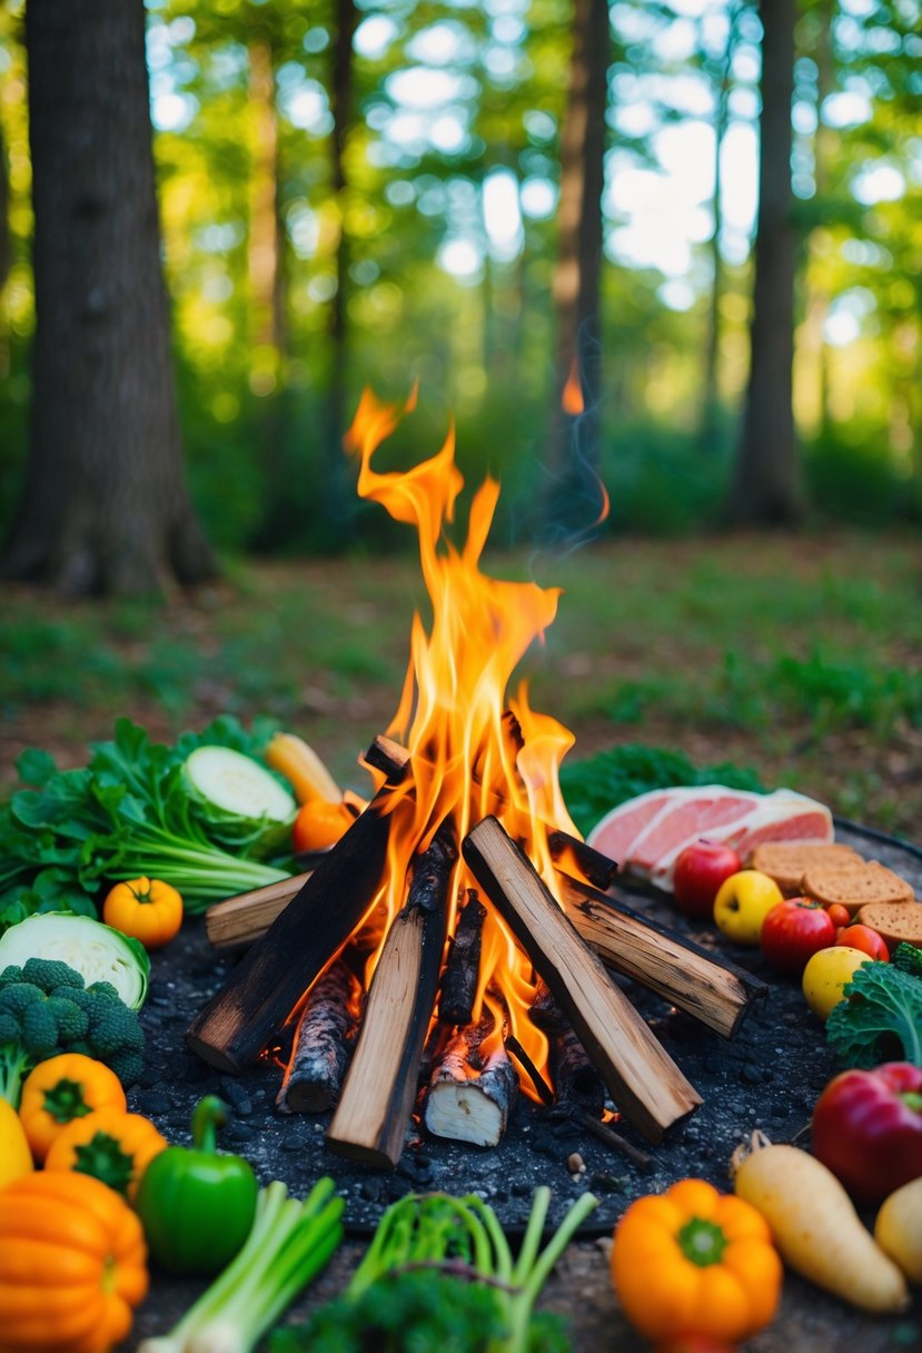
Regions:
<instances>
[{"instance_id":1,"label":"long pale yellow parsnip beside the orange pepper at bottom right","mask_svg":"<svg viewBox=\"0 0 922 1353\"><path fill-rule=\"evenodd\" d=\"M762 1214L792 1269L863 1311L907 1308L903 1275L821 1161L753 1132L734 1153L730 1170L734 1191Z\"/></svg>"}]
</instances>

